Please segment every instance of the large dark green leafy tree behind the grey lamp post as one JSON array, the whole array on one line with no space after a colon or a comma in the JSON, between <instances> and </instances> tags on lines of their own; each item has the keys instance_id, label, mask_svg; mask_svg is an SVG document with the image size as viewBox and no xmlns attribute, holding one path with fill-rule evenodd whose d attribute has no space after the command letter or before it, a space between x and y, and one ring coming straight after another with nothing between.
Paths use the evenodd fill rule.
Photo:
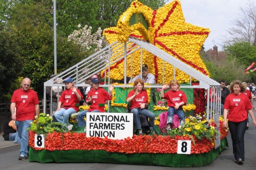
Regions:
<instances>
[{"instance_id":1,"label":"large dark green leafy tree behind the grey lamp post","mask_svg":"<svg viewBox=\"0 0 256 170\"><path fill-rule=\"evenodd\" d=\"M16 42L15 53L19 54L18 64L22 69L17 72L19 77L29 77L33 88L41 96L43 83L53 74L53 29L44 15L50 11L44 4L19 4L13 8L8 21L10 39ZM80 46L57 36L58 71L63 71L81 61L86 52Z\"/></svg>"}]
</instances>

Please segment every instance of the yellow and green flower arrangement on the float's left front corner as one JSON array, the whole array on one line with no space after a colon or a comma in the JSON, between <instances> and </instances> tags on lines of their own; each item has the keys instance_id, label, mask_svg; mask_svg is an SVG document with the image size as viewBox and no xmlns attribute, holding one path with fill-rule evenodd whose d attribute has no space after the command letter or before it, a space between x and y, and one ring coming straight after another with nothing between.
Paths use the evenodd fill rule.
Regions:
<instances>
[{"instance_id":1,"label":"yellow and green flower arrangement on the float's left front corner","mask_svg":"<svg viewBox=\"0 0 256 170\"><path fill-rule=\"evenodd\" d=\"M46 134L52 132L68 132L66 125L59 122L52 122L52 117L46 113L40 113L39 117L35 116L35 120L31 122L28 130L33 131L37 134Z\"/></svg>"}]
</instances>

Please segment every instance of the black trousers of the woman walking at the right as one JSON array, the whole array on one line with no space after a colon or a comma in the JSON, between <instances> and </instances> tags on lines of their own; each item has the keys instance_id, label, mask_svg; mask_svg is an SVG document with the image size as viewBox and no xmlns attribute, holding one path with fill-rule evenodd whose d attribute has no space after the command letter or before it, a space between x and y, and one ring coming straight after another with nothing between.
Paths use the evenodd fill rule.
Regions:
<instances>
[{"instance_id":1,"label":"black trousers of the woman walking at the right","mask_svg":"<svg viewBox=\"0 0 256 170\"><path fill-rule=\"evenodd\" d=\"M234 159L244 160L244 134L247 120L243 122L228 121L228 128L231 134Z\"/></svg>"}]
</instances>

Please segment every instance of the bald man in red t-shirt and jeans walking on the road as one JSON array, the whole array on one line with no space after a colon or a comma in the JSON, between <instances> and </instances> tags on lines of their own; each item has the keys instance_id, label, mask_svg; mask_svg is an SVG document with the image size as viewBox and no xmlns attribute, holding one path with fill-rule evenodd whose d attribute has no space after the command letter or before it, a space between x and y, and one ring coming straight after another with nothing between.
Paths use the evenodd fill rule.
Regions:
<instances>
[{"instance_id":1,"label":"bald man in red t-shirt and jeans walking on the road","mask_svg":"<svg viewBox=\"0 0 256 170\"><path fill-rule=\"evenodd\" d=\"M39 116L39 101L36 92L30 89L31 80L25 78L22 81L21 88L15 90L11 99L12 119L16 120L15 124L20 138L20 155L19 160L28 158L28 139L27 128L33 122L35 115ZM16 114L14 114L16 107Z\"/></svg>"}]
</instances>

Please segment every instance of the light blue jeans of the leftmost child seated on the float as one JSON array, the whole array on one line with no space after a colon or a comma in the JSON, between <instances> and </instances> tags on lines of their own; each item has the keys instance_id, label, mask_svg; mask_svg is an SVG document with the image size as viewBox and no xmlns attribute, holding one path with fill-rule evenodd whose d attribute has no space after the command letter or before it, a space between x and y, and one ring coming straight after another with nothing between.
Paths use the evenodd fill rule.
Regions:
<instances>
[{"instance_id":1,"label":"light blue jeans of the leftmost child seated on the float","mask_svg":"<svg viewBox=\"0 0 256 170\"><path fill-rule=\"evenodd\" d=\"M76 110L73 108L63 109L61 108L59 111L54 113L54 117L58 122L62 124L69 124L69 116L73 113L76 113Z\"/></svg>"}]
</instances>

